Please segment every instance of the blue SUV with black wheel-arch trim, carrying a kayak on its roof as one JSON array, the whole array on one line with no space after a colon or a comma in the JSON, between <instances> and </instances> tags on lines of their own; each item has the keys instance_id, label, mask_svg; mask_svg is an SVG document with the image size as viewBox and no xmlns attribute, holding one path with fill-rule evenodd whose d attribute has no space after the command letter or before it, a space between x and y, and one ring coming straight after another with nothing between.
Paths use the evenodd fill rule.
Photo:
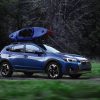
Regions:
<instances>
[{"instance_id":1,"label":"blue SUV with black wheel-arch trim, carrying a kayak on its roof","mask_svg":"<svg viewBox=\"0 0 100 100\"><path fill-rule=\"evenodd\" d=\"M61 78L64 74L79 78L91 71L91 64L85 57L61 53L46 44L15 43L6 46L0 53L0 71L3 77L13 72L23 72L32 76L35 72L44 72L49 78Z\"/></svg>"}]
</instances>

